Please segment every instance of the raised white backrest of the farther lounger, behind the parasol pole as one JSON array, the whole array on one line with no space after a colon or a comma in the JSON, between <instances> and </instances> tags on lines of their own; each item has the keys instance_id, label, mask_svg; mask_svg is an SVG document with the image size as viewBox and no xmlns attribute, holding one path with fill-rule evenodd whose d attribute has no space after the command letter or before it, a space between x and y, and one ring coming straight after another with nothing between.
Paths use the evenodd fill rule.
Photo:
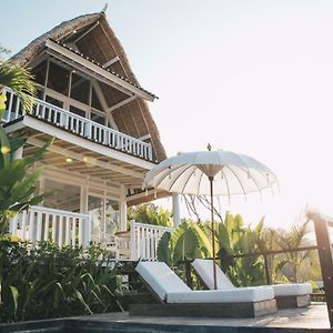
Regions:
<instances>
[{"instance_id":1,"label":"raised white backrest of the farther lounger, behind the parasol pole","mask_svg":"<svg viewBox=\"0 0 333 333\"><path fill-rule=\"evenodd\" d=\"M206 259L195 259L192 262L192 266L198 273L198 275L201 278L203 283L209 289L214 289L213 261ZM218 265L216 265L216 285L218 289L235 287Z\"/></svg>"}]
</instances>

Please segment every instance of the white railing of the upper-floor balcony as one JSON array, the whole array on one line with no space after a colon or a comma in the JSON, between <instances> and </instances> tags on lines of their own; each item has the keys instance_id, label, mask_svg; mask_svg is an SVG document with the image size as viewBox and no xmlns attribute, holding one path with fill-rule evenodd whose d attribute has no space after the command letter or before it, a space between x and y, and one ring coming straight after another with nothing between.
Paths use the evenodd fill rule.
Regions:
<instances>
[{"instance_id":1,"label":"white railing of the upper-floor balcony","mask_svg":"<svg viewBox=\"0 0 333 333\"><path fill-rule=\"evenodd\" d=\"M4 89L4 92L7 94L7 108L2 121L7 123L19 119L23 115L23 113L19 98L8 88ZM101 143L145 160L152 160L152 149L150 143L118 132L48 102L36 99L36 105L31 114L93 142Z\"/></svg>"}]
</instances>

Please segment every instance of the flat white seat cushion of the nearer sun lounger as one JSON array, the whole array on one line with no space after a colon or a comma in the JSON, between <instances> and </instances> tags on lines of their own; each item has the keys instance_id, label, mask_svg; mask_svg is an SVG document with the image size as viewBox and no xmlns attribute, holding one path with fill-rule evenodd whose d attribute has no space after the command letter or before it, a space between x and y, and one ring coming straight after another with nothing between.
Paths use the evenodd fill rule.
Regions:
<instances>
[{"instance_id":1,"label":"flat white seat cushion of the nearer sun lounger","mask_svg":"<svg viewBox=\"0 0 333 333\"><path fill-rule=\"evenodd\" d=\"M168 293L167 303L244 303L274 299L271 286L249 286L230 290L201 290L190 293Z\"/></svg>"}]
</instances>

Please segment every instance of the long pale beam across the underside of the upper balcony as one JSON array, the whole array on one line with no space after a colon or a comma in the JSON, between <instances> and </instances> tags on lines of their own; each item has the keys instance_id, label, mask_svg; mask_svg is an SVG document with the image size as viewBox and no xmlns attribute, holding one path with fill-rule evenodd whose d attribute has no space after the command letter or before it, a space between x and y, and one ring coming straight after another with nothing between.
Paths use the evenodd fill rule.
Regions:
<instances>
[{"instance_id":1,"label":"long pale beam across the underside of the upper balcony","mask_svg":"<svg viewBox=\"0 0 333 333\"><path fill-rule=\"evenodd\" d=\"M40 148L44 145L43 141L40 141L38 139L34 139L34 138L28 138L27 142L29 144L33 144L33 145L40 147ZM64 157L69 157L71 159L74 159L74 160L78 160L78 161L82 161L82 162L87 163L88 165L90 164L91 167L95 165L95 167L100 167L100 168L103 168L103 169L107 169L107 170L110 170L110 171L124 173L124 174L128 174L128 175L131 175L131 176L134 176L134 178L139 178L139 179L143 178L142 173L130 171L130 170L127 170L127 169L120 168L120 167L114 167L111 163L102 162L98 159L87 158L82 154L79 154L79 153L75 153L75 152L72 152L72 151L68 151L67 149L57 147L56 144L52 144L51 147L49 147L48 150L51 151L51 152L64 155Z\"/></svg>"}]
</instances>

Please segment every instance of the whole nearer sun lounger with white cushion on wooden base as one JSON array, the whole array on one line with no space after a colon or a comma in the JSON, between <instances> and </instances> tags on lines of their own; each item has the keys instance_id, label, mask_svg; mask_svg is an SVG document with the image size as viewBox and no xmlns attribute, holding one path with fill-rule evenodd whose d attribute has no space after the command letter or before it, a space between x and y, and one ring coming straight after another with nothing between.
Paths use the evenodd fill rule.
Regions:
<instances>
[{"instance_id":1,"label":"whole nearer sun lounger with white cushion on wooden base","mask_svg":"<svg viewBox=\"0 0 333 333\"><path fill-rule=\"evenodd\" d=\"M192 291L163 262L140 262L137 271L159 303L131 304L132 315L255 317L276 311L271 286Z\"/></svg>"}]
</instances>

